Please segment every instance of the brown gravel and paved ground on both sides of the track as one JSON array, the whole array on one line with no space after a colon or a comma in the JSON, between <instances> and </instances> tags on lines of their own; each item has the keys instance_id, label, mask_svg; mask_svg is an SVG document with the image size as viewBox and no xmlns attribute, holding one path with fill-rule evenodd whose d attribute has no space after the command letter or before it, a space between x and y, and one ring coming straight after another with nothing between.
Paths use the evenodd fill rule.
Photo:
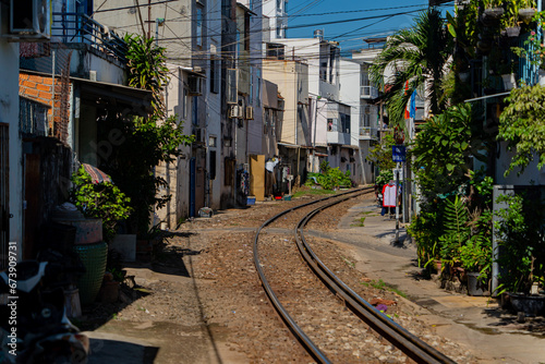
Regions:
<instances>
[{"instance_id":1,"label":"brown gravel and paved ground on both sides of the track","mask_svg":"<svg viewBox=\"0 0 545 364\"><path fill-rule=\"evenodd\" d=\"M272 311L252 260L254 230L302 201L195 219L173 232L152 263L128 266L129 276L150 294L86 332L92 338L89 363L313 362ZM415 248L403 230L402 244L392 246L395 221L382 217L373 199L341 208L317 216L307 234L320 238L315 239L316 253L349 286L366 287L364 299L396 301L389 310L398 324L458 363L543 362L543 318L518 324L495 301L439 289L420 275ZM362 216L363 227L356 223ZM380 280L407 299L376 284ZM83 320L94 317L87 315ZM334 333L334 340L346 344L347 338ZM380 340L362 342L352 349L353 362L385 362L389 347Z\"/></svg>"}]
</instances>

